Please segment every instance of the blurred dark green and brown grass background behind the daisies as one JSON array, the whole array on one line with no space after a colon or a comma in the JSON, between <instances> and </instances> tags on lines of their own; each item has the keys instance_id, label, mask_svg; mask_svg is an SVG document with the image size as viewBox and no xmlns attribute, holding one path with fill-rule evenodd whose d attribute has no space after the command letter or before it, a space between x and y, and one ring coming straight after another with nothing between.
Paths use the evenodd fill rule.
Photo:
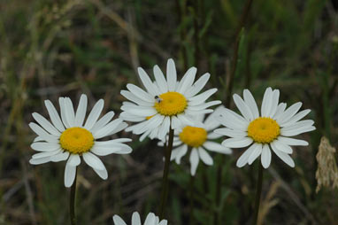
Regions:
<instances>
[{"instance_id":1,"label":"blurred dark green and brown grass background behind the daisies","mask_svg":"<svg viewBox=\"0 0 338 225\"><path fill-rule=\"evenodd\" d=\"M261 99L269 86L280 89L288 105L302 101L310 108L317 130L301 136L310 146L294 148L296 167L273 156L265 170L259 223L338 224L337 190L315 192L320 137L338 145L337 1L250 2L0 0L0 224L68 224L65 163L28 163L35 134L27 124L32 112L47 115L44 99L76 102L86 93L92 105L104 98L104 111L119 114L120 89L140 84L137 66L152 74L152 66L165 68L168 58L179 77L189 66L198 76L210 72L208 88L217 87L214 98L232 109L233 93L250 88ZM129 222L134 211L142 218L157 212L163 150L155 140L119 136L132 137L134 151L103 158L107 181L80 167L79 224L112 224L113 214ZM169 223L248 224L258 161L237 168L241 154L214 155L216 165L200 164L195 179L187 156L181 166L173 163Z\"/></svg>"}]
</instances>

